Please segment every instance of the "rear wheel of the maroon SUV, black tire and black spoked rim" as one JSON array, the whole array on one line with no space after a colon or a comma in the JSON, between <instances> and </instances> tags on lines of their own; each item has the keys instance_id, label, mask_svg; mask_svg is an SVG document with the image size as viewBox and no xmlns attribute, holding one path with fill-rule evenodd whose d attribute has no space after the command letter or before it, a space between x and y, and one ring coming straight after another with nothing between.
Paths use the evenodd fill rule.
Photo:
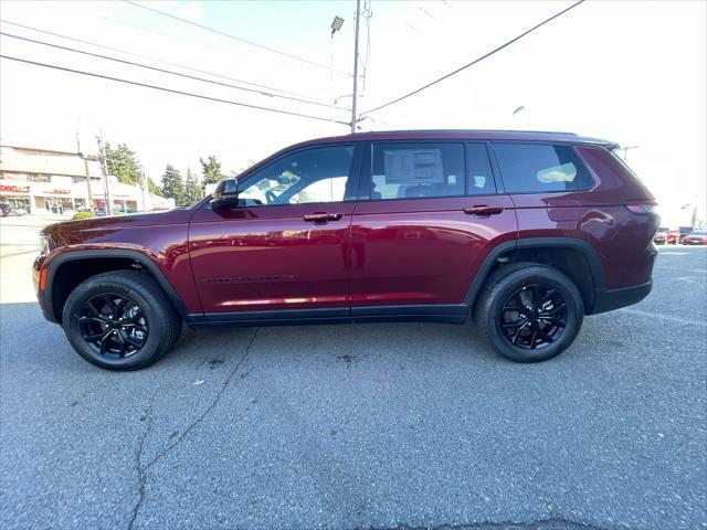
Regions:
<instances>
[{"instance_id":1,"label":"rear wheel of the maroon SUV, black tire and black spoked rim","mask_svg":"<svg viewBox=\"0 0 707 530\"><path fill-rule=\"evenodd\" d=\"M538 307L550 309L536 308L534 303L546 297L550 298ZM525 298L530 301L523 301ZM537 263L515 263L497 269L474 305L474 321L481 333L494 350L516 362L559 356L577 338L583 318L584 304L574 283L558 269ZM564 324L562 328L560 322ZM538 338L531 335L535 331ZM542 343L545 333L548 339Z\"/></svg>"}]
</instances>

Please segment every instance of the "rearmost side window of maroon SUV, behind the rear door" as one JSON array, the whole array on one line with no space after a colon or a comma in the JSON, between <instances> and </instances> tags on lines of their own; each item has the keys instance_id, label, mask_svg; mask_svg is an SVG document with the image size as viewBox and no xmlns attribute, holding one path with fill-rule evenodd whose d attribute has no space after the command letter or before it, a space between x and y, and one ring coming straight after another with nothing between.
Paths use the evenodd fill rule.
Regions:
<instances>
[{"instance_id":1,"label":"rearmost side window of maroon SUV, behind the rear door","mask_svg":"<svg viewBox=\"0 0 707 530\"><path fill-rule=\"evenodd\" d=\"M571 146L494 142L509 193L587 190L592 179Z\"/></svg>"}]
</instances>

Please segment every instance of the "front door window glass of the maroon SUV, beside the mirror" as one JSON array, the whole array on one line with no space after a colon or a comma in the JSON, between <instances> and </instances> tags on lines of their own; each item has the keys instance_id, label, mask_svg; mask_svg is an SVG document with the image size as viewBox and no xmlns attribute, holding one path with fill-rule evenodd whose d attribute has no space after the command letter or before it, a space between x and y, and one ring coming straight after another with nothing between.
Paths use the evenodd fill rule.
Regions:
<instances>
[{"instance_id":1,"label":"front door window glass of the maroon SUV, beside the mirror","mask_svg":"<svg viewBox=\"0 0 707 530\"><path fill-rule=\"evenodd\" d=\"M249 206L341 202L347 197L352 159L352 146L287 155L249 177L239 199Z\"/></svg>"}]
</instances>

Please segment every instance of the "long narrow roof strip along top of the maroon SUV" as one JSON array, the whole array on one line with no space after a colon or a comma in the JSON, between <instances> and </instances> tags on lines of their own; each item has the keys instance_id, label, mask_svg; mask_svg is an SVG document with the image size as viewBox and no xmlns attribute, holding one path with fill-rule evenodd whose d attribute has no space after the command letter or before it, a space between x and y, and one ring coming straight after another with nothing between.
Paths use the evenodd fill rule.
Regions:
<instances>
[{"instance_id":1,"label":"long narrow roof strip along top of the maroon SUV","mask_svg":"<svg viewBox=\"0 0 707 530\"><path fill-rule=\"evenodd\" d=\"M515 140L590 144L615 149L619 144L600 138L579 136L574 132L549 130L499 130L499 129L428 129L428 130L381 130L355 132L351 135L317 138L299 144L306 146L320 142L345 142L361 140Z\"/></svg>"}]
</instances>

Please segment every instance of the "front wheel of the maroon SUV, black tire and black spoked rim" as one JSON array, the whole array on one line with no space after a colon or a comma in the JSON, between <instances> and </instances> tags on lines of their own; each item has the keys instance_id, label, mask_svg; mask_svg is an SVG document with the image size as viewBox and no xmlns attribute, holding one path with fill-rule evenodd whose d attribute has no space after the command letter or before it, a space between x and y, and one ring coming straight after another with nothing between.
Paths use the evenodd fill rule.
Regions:
<instances>
[{"instance_id":1,"label":"front wheel of the maroon SUV, black tire and black spoked rim","mask_svg":"<svg viewBox=\"0 0 707 530\"><path fill-rule=\"evenodd\" d=\"M177 343L181 325L160 286L137 271L84 280L68 295L62 316L66 338L81 357L118 371L157 362ZM107 338L88 340L98 335Z\"/></svg>"}]
</instances>

